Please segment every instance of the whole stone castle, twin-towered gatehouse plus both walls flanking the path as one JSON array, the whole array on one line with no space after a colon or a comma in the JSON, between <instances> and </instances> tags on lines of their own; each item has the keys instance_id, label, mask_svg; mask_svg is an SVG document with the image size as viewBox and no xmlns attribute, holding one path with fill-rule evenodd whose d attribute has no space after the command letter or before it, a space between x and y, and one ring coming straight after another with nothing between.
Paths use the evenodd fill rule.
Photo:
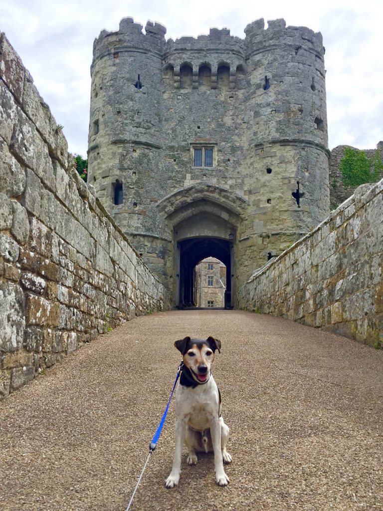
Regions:
<instances>
[{"instance_id":1,"label":"whole stone castle, twin-towered gatehouse plus both walls flanking the path","mask_svg":"<svg viewBox=\"0 0 383 511\"><path fill-rule=\"evenodd\" d=\"M324 218L321 36L282 20L245 40L163 35L128 18L95 42L85 183L0 33L0 399L124 321L192 303L206 257L226 266L227 307L383 348L383 179ZM365 152L375 178L381 150Z\"/></svg>"}]
</instances>

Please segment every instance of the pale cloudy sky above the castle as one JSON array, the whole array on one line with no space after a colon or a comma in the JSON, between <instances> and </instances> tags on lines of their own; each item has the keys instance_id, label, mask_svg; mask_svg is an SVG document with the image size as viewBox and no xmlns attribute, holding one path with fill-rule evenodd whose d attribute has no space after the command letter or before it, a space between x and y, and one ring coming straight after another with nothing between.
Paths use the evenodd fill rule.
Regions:
<instances>
[{"instance_id":1,"label":"pale cloudy sky above the castle","mask_svg":"<svg viewBox=\"0 0 383 511\"><path fill-rule=\"evenodd\" d=\"M89 67L101 30L117 30L121 18L132 16L144 26L159 21L166 38L207 34L210 27L244 38L251 21L284 18L287 25L322 32L329 148L372 149L383 140L382 11L381 0L0 0L0 31L64 126L69 151L85 157Z\"/></svg>"}]
</instances>

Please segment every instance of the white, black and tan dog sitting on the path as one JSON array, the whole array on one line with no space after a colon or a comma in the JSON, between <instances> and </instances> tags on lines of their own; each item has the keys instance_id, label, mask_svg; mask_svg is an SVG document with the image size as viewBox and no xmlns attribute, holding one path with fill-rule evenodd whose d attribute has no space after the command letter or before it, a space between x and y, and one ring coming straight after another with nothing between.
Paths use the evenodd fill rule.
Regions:
<instances>
[{"instance_id":1,"label":"white, black and tan dog sitting on the path","mask_svg":"<svg viewBox=\"0 0 383 511\"><path fill-rule=\"evenodd\" d=\"M185 444L187 463L197 463L197 452L213 452L216 481L226 486L229 478L223 463L230 463L226 451L229 428L221 415L221 393L211 375L211 364L221 341L208 337L185 337L174 343L182 354L183 366L176 391L175 451L172 471L165 481L166 488L178 484L181 473L181 455Z\"/></svg>"}]
</instances>

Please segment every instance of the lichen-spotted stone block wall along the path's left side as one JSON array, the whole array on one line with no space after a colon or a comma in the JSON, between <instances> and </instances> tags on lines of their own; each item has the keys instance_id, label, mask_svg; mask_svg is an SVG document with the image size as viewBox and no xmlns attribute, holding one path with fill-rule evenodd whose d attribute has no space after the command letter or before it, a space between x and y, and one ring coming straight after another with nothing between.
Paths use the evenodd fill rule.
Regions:
<instances>
[{"instance_id":1,"label":"lichen-spotted stone block wall along the path's left side","mask_svg":"<svg viewBox=\"0 0 383 511\"><path fill-rule=\"evenodd\" d=\"M162 284L71 161L0 34L0 397L122 321L166 307Z\"/></svg>"}]
</instances>

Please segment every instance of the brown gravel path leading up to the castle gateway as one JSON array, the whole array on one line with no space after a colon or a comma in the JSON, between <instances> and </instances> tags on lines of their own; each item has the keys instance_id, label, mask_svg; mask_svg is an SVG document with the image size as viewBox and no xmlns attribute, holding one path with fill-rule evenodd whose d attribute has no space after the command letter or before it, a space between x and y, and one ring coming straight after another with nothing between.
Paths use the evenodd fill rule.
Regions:
<instances>
[{"instance_id":1,"label":"brown gravel path leading up to the castle gateway","mask_svg":"<svg viewBox=\"0 0 383 511\"><path fill-rule=\"evenodd\" d=\"M382 510L383 352L239 311L139 317L0 404L0 509L124 511L176 376L173 347L221 339L213 366L231 429L230 484L184 456L166 490L174 408L131 511Z\"/></svg>"}]
</instances>

